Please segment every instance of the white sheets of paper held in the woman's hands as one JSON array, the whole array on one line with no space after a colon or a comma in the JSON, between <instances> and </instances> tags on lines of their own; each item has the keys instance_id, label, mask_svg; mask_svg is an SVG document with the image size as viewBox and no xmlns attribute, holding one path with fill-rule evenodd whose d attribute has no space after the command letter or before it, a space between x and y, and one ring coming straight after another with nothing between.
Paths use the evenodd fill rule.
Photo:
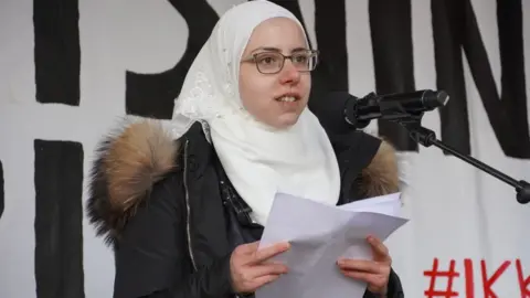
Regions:
<instances>
[{"instance_id":1,"label":"white sheets of paper held in the woman's hands","mask_svg":"<svg viewBox=\"0 0 530 298\"><path fill-rule=\"evenodd\" d=\"M368 235L386 240L409 220L399 216L400 193L341 206L277 194L259 247L289 242L290 249L276 257L289 273L261 287L256 298L354 298L365 283L344 277L340 257L371 259Z\"/></svg>"}]
</instances>

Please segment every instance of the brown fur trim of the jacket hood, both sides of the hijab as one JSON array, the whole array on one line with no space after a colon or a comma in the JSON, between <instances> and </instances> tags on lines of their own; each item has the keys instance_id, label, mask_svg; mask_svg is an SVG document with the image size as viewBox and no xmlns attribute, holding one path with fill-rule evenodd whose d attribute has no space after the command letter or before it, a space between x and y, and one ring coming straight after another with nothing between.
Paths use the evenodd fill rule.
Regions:
<instances>
[{"instance_id":1,"label":"brown fur trim of the jacket hood, both sides of the hijab","mask_svg":"<svg viewBox=\"0 0 530 298\"><path fill-rule=\"evenodd\" d=\"M152 187L179 170L181 140L173 140L160 120L124 123L96 150L88 182L87 214L108 243L119 235ZM394 149L385 141L362 170L360 189L370 198L399 191Z\"/></svg>"}]
</instances>

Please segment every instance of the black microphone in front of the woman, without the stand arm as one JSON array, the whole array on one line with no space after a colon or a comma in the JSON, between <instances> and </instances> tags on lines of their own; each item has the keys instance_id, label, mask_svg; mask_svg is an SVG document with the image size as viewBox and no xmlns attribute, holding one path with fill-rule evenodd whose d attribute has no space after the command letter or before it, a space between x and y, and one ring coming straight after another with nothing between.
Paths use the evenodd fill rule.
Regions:
<instances>
[{"instance_id":1,"label":"black microphone in front of the woman, without the stand arm","mask_svg":"<svg viewBox=\"0 0 530 298\"><path fill-rule=\"evenodd\" d=\"M314 113L322 126L336 131L347 131L351 127L364 128L373 119L400 120L445 106L449 96L444 91L416 91L377 95L370 93L362 98L347 92L332 92Z\"/></svg>"}]
</instances>

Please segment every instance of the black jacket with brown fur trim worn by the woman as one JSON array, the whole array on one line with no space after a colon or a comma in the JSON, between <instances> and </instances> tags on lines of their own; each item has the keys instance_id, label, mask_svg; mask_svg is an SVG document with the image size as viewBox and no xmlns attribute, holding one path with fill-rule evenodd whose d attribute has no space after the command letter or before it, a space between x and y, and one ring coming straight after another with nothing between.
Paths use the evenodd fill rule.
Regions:
<instances>
[{"instance_id":1,"label":"black jacket with brown fur trim worn by the woman","mask_svg":"<svg viewBox=\"0 0 530 298\"><path fill-rule=\"evenodd\" d=\"M328 135L341 170L340 204L398 191L386 142L360 131ZM200 124L179 140L142 121L103 141L87 212L115 251L114 297L236 297L231 252L258 240L263 227L245 223L246 205L219 164ZM393 272L389 289L389 297L404 297Z\"/></svg>"}]
</instances>

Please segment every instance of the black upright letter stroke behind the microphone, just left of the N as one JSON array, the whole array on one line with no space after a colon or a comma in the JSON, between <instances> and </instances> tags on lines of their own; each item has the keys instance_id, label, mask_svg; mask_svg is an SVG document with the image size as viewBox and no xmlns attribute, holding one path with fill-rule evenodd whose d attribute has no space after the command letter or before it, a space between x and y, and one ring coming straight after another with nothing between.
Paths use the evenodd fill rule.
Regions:
<instances>
[{"instance_id":1,"label":"black upright letter stroke behind the microphone, just left of the N","mask_svg":"<svg viewBox=\"0 0 530 298\"><path fill-rule=\"evenodd\" d=\"M375 92L378 94L415 91L411 1L370 0ZM409 132L395 123L379 120L379 135L400 151L417 150Z\"/></svg>"}]
</instances>

